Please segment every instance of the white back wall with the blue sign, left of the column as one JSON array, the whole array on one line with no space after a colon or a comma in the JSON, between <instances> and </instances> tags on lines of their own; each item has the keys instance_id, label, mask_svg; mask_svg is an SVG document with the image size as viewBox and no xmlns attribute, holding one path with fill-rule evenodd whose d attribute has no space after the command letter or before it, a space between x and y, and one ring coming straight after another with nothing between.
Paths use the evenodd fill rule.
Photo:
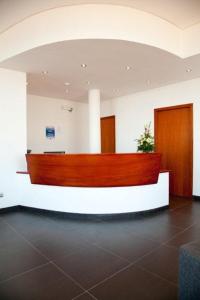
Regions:
<instances>
[{"instance_id":1,"label":"white back wall with the blue sign, left of the column","mask_svg":"<svg viewBox=\"0 0 200 300\"><path fill-rule=\"evenodd\" d=\"M88 105L35 95L27 97L27 147L44 151L88 152ZM73 111L63 110L63 105ZM55 138L47 139L46 126L55 127Z\"/></svg>"}]
</instances>

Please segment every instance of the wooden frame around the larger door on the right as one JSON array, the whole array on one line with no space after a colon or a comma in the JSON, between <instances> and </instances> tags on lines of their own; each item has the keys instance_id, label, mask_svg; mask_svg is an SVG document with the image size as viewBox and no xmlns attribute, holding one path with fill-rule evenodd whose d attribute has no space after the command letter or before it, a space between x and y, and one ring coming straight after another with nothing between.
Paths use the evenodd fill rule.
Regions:
<instances>
[{"instance_id":1,"label":"wooden frame around the larger door on the right","mask_svg":"<svg viewBox=\"0 0 200 300\"><path fill-rule=\"evenodd\" d=\"M190 109L190 132L191 132L191 146L190 146L190 158L191 158L191 188L192 188L192 194L193 194L193 103L187 103L187 104L180 104L180 105L174 105L174 106L166 106L161 108L155 108L154 109L154 144L155 144L155 151L156 151L156 144L157 144L157 124L158 124L158 112L161 111L167 111L167 110L175 110L180 108L189 108ZM170 171L170 170L169 170ZM191 195L192 196L192 195Z\"/></svg>"}]
</instances>

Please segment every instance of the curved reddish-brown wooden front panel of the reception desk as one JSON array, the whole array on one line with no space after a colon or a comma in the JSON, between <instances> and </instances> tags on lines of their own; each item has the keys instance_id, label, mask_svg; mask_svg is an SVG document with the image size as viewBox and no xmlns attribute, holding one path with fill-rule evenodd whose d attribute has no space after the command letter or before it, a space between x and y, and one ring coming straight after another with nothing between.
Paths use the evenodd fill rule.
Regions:
<instances>
[{"instance_id":1,"label":"curved reddish-brown wooden front panel of the reception desk","mask_svg":"<svg viewBox=\"0 0 200 300\"><path fill-rule=\"evenodd\" d=\"M33 184L121 187L158 181L159 153L27 154Z\"/></svg>"}]
</instances>

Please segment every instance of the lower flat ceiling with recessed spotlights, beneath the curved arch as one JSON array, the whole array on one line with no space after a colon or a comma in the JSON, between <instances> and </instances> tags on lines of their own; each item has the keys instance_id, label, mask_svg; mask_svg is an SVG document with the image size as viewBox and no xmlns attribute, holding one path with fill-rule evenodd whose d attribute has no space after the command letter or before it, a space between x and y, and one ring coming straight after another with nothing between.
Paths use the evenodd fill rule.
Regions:
<instances>
[{"instance_id":1,"label":"lower flat ceiling with recessed spotlights, beneath the curved arch","mask_svg":"<svg viewBox=\"0 0 200 300\"><path fill-rule=\"evenodd\" d=\"M30 94L76 101L87 101L90 88L99 88L102 99L110 99L200 77L200 55L181 59L158 48L116 40L51 44L0 66L27 72ZM192 72L186 72L188 68ZM68 93L65 82L70 83Z\"/></svg>"}]
</instances>

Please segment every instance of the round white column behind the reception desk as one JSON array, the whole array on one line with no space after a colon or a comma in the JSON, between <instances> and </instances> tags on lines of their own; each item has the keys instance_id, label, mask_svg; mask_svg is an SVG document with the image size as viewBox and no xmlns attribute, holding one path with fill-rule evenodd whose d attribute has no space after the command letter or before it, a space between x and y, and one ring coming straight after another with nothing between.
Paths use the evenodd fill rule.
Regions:
<instances>
[{"instance_id":1,"label":"round white column behind the reception desk","mask_svg":"<svg viewBox=\"0 0 200 300\"><path fill-rule=\"evenodd\" d=\"M100 90L89 90L89 149L90 153L101 152Z\"/></svg>"}]
</instances>

